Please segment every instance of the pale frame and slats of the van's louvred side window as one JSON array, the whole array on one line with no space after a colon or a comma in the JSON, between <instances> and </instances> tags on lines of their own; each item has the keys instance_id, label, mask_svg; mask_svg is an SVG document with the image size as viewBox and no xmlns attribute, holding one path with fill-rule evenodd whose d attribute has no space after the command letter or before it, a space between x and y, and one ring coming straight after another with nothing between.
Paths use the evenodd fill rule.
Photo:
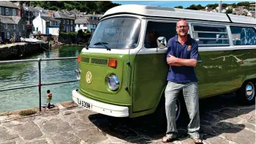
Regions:
<instances>
[{"instance_id":1,"label":"pale frame and slats of the van's louvred side window","mask_svg":"<svg viewBox=\"0 0 256 144\"><path fill-rule=\"evenodd\" d=\"M204 27L219 27L219 28L225 28L226 32L215 32L215 31L195 31L194 26L204 26ZM198 44L198 47L230 47L233 45L233 42L230 42L230 34L229 34L229 28L225 24L217 24L217 23L196 23L191 22L190 23L190 29L192 31L192 38L195 39L195 33L206 33L206 34L227 34L227 38L219 38L219 39L226 39L228 41L228 44L199 44L197 39L195 41ZM215 39L215 38L203 38L198 37L198 39ZM217 40L218 38L216 38ZM200 40L199 40L200 41Z\"/></svg>"}]
</instances>

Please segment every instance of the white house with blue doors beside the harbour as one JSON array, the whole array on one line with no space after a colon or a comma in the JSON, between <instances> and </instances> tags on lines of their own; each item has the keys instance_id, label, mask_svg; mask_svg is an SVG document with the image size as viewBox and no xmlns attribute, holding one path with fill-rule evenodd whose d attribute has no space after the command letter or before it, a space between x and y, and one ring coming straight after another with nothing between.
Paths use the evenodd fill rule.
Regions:
<instances>
[{"instance_id":1,"label":"white house with blue doors beside the harbour","mask_svg":"<svg viewBox=\"0 0 256 144\"><path fill-rule=\"evenodd\" d=\"M39 15L33 20L33 26L34 30L40 31L41 34L59 35L60 22L60 20L56 20L50 16L42 16L41 12L39 12Z\"/></svg>"}]
</instances>

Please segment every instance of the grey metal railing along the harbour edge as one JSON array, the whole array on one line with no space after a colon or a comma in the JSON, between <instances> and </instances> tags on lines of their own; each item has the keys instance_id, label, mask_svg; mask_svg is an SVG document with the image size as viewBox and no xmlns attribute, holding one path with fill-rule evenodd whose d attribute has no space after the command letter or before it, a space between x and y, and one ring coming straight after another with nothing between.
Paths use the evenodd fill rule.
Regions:
<instances>
[{"instance_id":1,"label":"grey metal railing along the harbour edge","mask_svg":"<svg viewBox=\"0 0 256 144\"><path fill-rule=\"evenodd\" d=\"M38 62L38 70L39 70L39 82L38 85L31 85L31 86L18 86L18 87L11 87L11 88L4 88L0 89L1 91L11 91L15 89L22 89L22 88L33 88L38 86L39 91L39 111L41 111L41 87L42 86L49 86L49 85L56 85L61 83L72 83L77 82L78 80L70 80L70 81L63 81L58 83L41 83L41 61L54 61L54 60L62 60L62 59L76 59L77 57L63 57L63 58L37 58L37 59L24 59L24 60L12 60L12 61L0 61L0 64L11 64L11 63L22 63L22 62L31 62L37 61Z\"/></svg>"}]
</instances>

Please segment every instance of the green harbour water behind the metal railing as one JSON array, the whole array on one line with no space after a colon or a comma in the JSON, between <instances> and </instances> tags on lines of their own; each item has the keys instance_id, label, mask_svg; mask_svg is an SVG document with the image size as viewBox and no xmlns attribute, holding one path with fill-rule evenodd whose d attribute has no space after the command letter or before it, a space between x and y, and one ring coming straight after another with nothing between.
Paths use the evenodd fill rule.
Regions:
<instances>
[{"instance_id":1,"label":"green harbour water behind the metal railing","mask_svg":"<svg viewBox=\"0 0 256 144\"><path fill-rule=\"evenodd\" d=\"M82 46L61 46L59 49L47 50L34 58L60 58L78 56ZM76 80L75 69L78 68L76 59L54 60L41 62L41 83L57 83ZM15 64L0 64L0 89L37 85L39 82L38 63L25 62ZM46 91L53 94L51 103L72 100L72 90L78 88L78 82L63 83L52 86L42 86L42 105L46 103ZM39 106L38 87L23 88L12 91L0 91L0 112L20 110Z\"/></svg>"}]
</instances>

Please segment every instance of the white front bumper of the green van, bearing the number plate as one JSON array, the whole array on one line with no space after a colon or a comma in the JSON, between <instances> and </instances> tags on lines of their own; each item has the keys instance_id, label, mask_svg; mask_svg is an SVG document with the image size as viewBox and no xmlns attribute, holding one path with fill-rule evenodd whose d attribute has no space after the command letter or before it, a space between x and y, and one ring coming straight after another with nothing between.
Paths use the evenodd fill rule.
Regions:
<instances>
[{"instance_id":1,"label":"white front bumper of the green van, bearing the number plate","mask_svg":"<svg viewBox=\"0 0 256 144\"><path fill-rule=\"evenodd\" d=\"M98 102L94 99L89 99L78 93L78 90L72 91L72 99L74 102L87 110L94 111L96 113L102 113L104 115L110 115L114 117L127 117L129 116L129 107L110 105L104 102Z\"/></svg>"}]
</instances>

